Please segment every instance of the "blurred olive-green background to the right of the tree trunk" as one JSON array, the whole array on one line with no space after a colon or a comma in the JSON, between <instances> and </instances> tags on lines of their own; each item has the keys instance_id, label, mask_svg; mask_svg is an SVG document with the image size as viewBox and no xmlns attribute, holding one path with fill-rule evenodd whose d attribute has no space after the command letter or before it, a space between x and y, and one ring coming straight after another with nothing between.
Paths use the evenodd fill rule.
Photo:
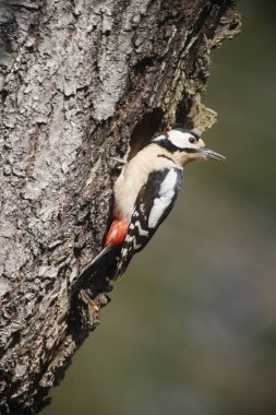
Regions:
<instances>
[{"instance_id":1,"label":"blurred olive-green background to the right of the tree trunk","mask_svg":"<svg viewBox=\"0 0 276 415\"><path fill-rule=\"evenodd\" d=\"M276 414L276 2L212 54L207 145L43 415Z\"/></svg>"}]
</instances>

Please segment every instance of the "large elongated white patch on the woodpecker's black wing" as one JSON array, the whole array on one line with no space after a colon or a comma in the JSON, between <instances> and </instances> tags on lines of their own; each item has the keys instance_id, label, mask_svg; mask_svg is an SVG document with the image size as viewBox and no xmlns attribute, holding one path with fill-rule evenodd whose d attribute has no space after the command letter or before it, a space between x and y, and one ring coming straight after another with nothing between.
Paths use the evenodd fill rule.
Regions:
<instances>
[{"instance_id":1,"label":"large elongated white patch on the woodpecker's black wing","mask_svg":"<svg viewBox=\"0 0 276 415\"><path fill-rule=\"evenodd\" d=\"M170 170L161 182L158 198L155 198L154 205L148 216L148 227L155 228L166 209L170 205L175 197L175 187L178 175Z\"/></svg>"}]
</instances>

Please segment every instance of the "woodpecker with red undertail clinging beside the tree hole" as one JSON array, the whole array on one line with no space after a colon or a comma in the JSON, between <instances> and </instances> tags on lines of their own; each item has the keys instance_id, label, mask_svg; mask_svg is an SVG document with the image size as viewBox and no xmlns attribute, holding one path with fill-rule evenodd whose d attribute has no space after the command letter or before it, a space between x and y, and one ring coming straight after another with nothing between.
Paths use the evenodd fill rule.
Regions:
<instances>
[{"instance_id":1,"label":"woodpecker with red undertail clinging beside the tree hole","mask_svg":"<svg viewBox=\"0 0 276 415\"><path fill-rule=\"evenodd\" d=\"M110 280L123 274L170 213L178 197L183 167L195 159L224 161L200 137L173 128L157 137L128 164L115 183L113 221L99 254L84 270L101 270Z\"/></svg>"}]
</instances>

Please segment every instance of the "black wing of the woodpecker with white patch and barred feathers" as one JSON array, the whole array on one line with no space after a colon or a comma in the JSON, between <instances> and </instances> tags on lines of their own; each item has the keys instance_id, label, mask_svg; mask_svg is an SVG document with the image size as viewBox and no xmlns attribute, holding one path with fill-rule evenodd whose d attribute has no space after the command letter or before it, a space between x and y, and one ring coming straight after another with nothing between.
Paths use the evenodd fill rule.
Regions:
<instances>
[{"instance_id":1,"label":"black wing of the woodpecker with white patch and barred feathers","mask_svg":"<svg viewBox=\"0 0 276 415\"><path fill-rule=\"evenodd\" d=\"M116 275L127 269L134 253L141 251L170 213L182 183L183 170L164 168L149 174L136 198L128 234L123 241Z\"/></svg>"}]
</instances>

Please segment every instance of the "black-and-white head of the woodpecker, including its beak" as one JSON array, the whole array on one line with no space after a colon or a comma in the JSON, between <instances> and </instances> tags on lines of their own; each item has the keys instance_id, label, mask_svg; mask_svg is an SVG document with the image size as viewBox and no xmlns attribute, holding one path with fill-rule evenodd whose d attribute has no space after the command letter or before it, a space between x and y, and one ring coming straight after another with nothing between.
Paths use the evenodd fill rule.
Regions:
<instances>
[{"instance_id":1,"label":"black-and-white head of the woodpecker, including its beak","mask_svg":"<svg viewBox=\"0 0 276 415\"><path fill-rule=\"evenodd\" d=\"M180 127L172 128L165 134L157 137L154 142L166 149L172 158L185 165L195 159L224 161L225 157L205 146L204 141L194 132Z\"/></svg>"}]
</instances>

